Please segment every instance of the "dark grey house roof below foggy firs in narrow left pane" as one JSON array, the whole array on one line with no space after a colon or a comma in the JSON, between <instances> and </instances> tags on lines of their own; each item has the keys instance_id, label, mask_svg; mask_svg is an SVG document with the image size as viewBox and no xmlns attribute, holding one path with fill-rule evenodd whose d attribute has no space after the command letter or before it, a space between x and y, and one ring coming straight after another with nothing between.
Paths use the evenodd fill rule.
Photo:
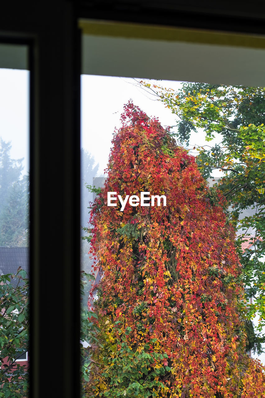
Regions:
<instances>
[{"instance_id":1,"label":"dark grey house roof below foggy firs in narrow left pane","mask_svg":"<svg viewBox=\"0 0 265 398\"><path fill-rule=\"evenodd\" d=\"M0 275L16 274L18 267L29 272L29 248L0 246Z\"/></svg>"}]
</instances>

